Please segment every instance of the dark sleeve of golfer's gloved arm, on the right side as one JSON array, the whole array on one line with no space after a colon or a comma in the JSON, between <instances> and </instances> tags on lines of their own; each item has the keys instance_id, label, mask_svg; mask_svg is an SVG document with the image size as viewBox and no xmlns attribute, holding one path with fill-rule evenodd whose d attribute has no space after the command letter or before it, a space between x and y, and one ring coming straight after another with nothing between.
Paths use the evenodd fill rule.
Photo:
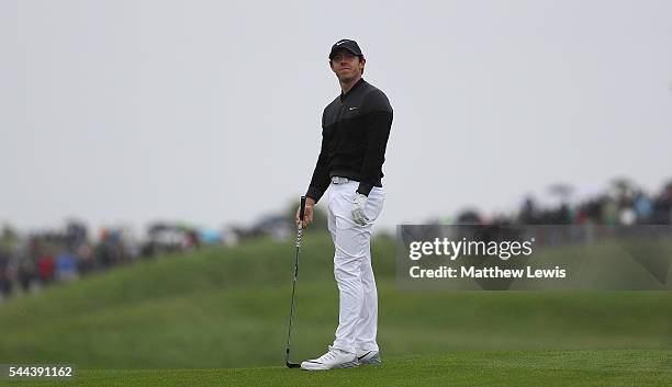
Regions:
<instances>
[{"instance_id":1,"label":"dark sleeve of golfer's gloved arm, on the right side","mask_svg":"<svg viewBox=\"0 0 672 387\"><path fill-rule=\"evenodd\" d=\"M385 94L377 90L367 96L366 138L367 148L361 168L361 181L357 192L369 195L376 182L381 178L382 164L385 161L385 148L392 128L392 106Z\"/></svg>"}]
</instances>

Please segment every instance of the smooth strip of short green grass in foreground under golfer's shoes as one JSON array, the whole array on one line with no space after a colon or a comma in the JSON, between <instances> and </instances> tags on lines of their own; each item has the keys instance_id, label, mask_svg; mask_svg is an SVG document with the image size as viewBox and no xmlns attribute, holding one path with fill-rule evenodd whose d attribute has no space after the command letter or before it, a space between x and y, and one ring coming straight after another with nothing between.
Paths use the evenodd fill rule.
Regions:
<instances>
[{"instance_id":1,"label":"smooth strip of short green grass in foreground under golfer's shoes","mask_svg":"<svg viewBox=\"0 0 672 387\"><path fill-rule=\"evenodd\" d=\"M24 382L25 383L25 382ZM8 382L12 385L14 382ZM26 385L29 383L25 383ZM456 352L397 356L381 366L305 372L282 367L82 369L32 386L670 386L671 351Z\"/></svg>"}]
</instances>

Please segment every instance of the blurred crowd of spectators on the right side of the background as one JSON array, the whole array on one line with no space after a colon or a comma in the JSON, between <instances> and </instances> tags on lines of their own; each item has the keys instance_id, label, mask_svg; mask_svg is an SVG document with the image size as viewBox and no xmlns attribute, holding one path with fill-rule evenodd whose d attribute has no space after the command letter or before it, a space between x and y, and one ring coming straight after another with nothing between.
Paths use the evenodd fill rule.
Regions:
<instances>
[{"instance_id":1,"label":"blurred crowd of spectators on the right side of the background","mask_svg":"<svg viewBox=\"0 0 672 387\"><path fill-rule=\"evenodd\" d=\"M513 235L519 237L519 232L524 232L527 238L535 238L536 246L672 237L672 228L669 227L672 224L672 181L653 195L625 179L614 180L604 192L582 200L572 200L573 190L565 184L552 185L548 193L552 198L549 201L547 197L546 205L527 196L513 214L488 217L469 209L455 219L444 219L437 224L485 226L489 235L502 240L512 239Z\"/></svg>"}]
</instances>

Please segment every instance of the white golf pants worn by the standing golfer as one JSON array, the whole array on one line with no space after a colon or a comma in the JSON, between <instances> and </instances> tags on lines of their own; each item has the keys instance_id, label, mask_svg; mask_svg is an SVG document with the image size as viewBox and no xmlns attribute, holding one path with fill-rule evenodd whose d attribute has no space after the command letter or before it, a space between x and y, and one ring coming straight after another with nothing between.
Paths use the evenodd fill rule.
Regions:
<instances>
[{"instance_id":1,"label":"white golf pants worn by the standing golfer","mask_svg":"<svg viewBox=\"0 0 672 387\"><path fill-rule=\"evenodd\" d=\"M378 351L378 291L371 268L371 227L382 210L385 193L369 193L366 226L352 221L352 198L359 183L329 186L328 228L334 239L334 276L338 284L339 312L334 348L355 353Z\"/></svg>"}]
</instances>

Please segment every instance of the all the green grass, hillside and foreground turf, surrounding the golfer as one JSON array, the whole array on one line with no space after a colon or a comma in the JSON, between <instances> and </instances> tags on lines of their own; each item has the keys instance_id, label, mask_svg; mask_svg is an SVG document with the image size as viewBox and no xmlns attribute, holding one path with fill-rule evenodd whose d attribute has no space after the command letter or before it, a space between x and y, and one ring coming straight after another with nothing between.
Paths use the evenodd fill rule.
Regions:
<instances>
[{"instance_id":1,"label":"all the green grass, hillside and foreground turf, surrounding the golfer","mask_svg":"<svg viewBox=\"0 0 672 387\"><path fill-rule=\"evenodd\" d=\"M672 385L670 293L405 292L387 239L372 248L383 366L278 367L292 244L203 249L10 299L0 304L0 364L75 364L80 376L63 384L86 386ZM328 236L305 236L294 360L333 340L331 249Z\"/></svg>"}]
</instances>

